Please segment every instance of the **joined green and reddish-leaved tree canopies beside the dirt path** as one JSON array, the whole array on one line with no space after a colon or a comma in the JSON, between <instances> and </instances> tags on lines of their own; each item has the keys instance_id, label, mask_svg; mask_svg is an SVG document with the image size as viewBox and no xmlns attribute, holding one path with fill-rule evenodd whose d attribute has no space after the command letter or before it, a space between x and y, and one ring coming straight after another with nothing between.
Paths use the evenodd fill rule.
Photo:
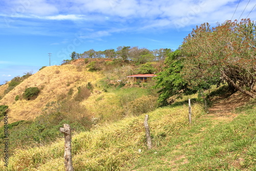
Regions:
<instances>
[{"instance_id":1,"label":"joined green and reddish-leaved tree canopies beside the dirt path","mask_svg":"<svg viewBox=\"0 0 256 171\"><path fill-rule=\"evenodd\" d=\"M205 23L194 29L166 58L167 67L157 77L160 104L183 94L202 94L224 82L231 90L255 98L255 35L256 25L249 19L228 20L215 28Z\"/></svg>"}]
</instances>

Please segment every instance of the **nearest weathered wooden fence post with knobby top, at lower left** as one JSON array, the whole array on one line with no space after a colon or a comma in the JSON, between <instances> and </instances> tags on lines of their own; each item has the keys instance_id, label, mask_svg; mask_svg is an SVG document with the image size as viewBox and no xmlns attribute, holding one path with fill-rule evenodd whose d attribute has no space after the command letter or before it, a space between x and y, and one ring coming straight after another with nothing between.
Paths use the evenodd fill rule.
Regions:
<instances>
[{"instance_id":1,"label":"nearest weathered wooden fence post with knobby top, at lower left","mask_svg":"<svg viewBox=\"0 0 256 171\"><path fill-rule=\"evenodd\" d=\"M64 153L64 164L66 171L74 171L72 164L72 153L71 153L71 128L68 124L63 124L59 131L64 134L65 137L65 153Z\"/></svg>"}]
</instances>

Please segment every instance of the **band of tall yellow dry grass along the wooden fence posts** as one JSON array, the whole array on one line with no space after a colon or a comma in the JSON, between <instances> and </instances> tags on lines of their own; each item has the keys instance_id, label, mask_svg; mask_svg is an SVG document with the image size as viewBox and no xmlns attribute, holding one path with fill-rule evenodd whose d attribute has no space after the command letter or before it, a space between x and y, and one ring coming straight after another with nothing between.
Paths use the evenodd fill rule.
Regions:
<instances>
[{"instance_id":1,"label":"band of tall yellow dry grass along the wooden fence posts","mask_svg":"<svg viewBox=\"0 0 256 171\"><path fill-rule=\"evenodd\" d=\"M200 105L193 107L195 117L203 114ZM149 125L155 147L177 135L187 124L187 108L162 108L150 115ZM144 115L95 127L91 132L73 136L72 154L76 170L126 170L130 163L146 153ZM63 170L63 140L51 145L17 150L7 170ZM141 149L142 153L138 150ZM0 163L0 169L3 166ZM2 167L4 169L4 167Z\"/></svg>"}]
</instances>

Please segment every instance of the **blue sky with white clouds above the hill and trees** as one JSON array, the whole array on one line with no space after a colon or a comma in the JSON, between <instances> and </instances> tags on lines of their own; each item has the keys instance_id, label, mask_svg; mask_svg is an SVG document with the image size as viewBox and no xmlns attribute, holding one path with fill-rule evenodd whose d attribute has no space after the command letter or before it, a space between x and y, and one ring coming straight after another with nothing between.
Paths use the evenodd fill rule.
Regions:
<instances>
[{"instance_id":1,"label":"blue sky with white clouds above the hill and trees","mask_svg":"<svg viewBox=\"0 0 256 171\"><path fill-rule=\"evenodd\" d=\"M255 20L255 4L255 0L1 0L0 84L49 66L48 53L51 65L60 65L73 51L119 46L175 50L202 23L214 27L227 19Z\"/></svg>"}]
</instances>

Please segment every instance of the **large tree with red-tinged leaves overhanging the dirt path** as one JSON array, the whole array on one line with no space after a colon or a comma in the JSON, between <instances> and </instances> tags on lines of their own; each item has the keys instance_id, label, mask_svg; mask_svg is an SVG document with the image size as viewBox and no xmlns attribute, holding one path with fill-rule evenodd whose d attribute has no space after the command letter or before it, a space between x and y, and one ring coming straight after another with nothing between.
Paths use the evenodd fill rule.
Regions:
<instances>
[{"instance_id":1,"label":"large tree with red-tinged leaves overhanging the dirt path","mask_svg":"<svg viewBox=\"0 0 256 171\"><path fill-rule=\"evenodd\" d=\"M256 25L250 19L227 20L210 28L197 26L181 47L183 77L191 87L221 79L234 89L256 97Z\"/></svg>"}]
</instances>

